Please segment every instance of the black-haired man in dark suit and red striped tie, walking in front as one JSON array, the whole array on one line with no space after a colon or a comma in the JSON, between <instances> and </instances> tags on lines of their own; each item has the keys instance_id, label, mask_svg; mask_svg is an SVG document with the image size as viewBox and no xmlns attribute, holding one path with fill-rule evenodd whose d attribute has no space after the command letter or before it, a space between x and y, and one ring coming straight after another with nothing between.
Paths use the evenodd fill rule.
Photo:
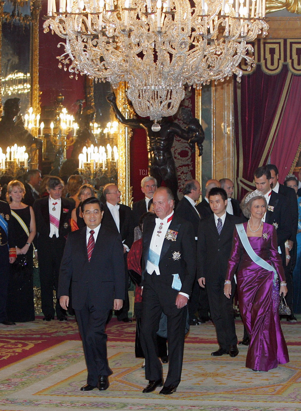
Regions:
<instances>
[{"instance_id":1,"label":"black-haired man in dark suit and red striped tie, walking in front","mask_svg":"<svg viewBox=\"0 0 301 411\"><path fill-rule=\"evenodd\" d=\"M83 340L87 384L81 391L106 390L108 365L106 319L112 307L121 309L125 294L123 247L120 234L101 224L103 203L91 197L81 205L86 227L70 233L60 267L58 296L64 310L72 307Z\"/></svg>"}]
</instances>

